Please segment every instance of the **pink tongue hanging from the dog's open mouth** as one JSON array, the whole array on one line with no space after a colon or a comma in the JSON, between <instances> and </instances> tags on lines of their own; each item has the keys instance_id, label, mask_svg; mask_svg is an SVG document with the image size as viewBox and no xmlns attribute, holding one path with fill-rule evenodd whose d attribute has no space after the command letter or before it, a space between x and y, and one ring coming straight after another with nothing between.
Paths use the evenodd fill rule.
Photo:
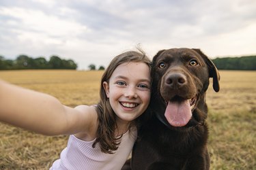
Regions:
<instances>
[{"instance_id":1,"label":"pink tongue hanging from the dog's open mouth","mask_svg":"<svg viewBox=\"0 0 256 170\"><path fill-rule=\"evenodd\" d=\"M192 117L189 100L168 102L165 118L171 126L185 126Z\"/></svg>"}]
</instances>

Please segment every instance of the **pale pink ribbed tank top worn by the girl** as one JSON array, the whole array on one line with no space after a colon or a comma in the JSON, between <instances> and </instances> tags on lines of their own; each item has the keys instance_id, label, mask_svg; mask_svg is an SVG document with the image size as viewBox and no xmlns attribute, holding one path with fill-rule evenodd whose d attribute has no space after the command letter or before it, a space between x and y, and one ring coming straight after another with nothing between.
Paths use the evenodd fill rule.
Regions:
<instances>
[{"instance_id":1,"label":"pale pink ribbed tank top worn by the girl","mask_svg":"<svg viewBox=\"0 0 256 170\"><path fill-rule=\"evenodd\" d=\"M68 146L62 150L61 156L55 160L50 169L83 169L83 170L120 170L128 158L137 138L137 130L124 133L119 148L114 154L100 151L98 143L92 148L93 141L83 141L70 135Z\"/></svg>"}]
</instances>

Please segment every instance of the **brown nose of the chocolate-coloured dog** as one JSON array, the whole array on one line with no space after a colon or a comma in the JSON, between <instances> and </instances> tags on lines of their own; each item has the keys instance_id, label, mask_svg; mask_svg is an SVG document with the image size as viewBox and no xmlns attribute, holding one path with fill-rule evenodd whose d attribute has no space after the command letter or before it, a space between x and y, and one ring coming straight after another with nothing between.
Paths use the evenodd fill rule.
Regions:
<instances>
[{"instance_id":1,"label":"brown nose of the chocolate-coloured dog","mask_svg":"<svg viewBox=\"0 0 256 170\"><path fill-rule=\"evenodd\" d=\"M182 73L172 73L165 82L171 88L181 88L186 84L187 80L186 76Z\"/></svg>"}]
</instances>

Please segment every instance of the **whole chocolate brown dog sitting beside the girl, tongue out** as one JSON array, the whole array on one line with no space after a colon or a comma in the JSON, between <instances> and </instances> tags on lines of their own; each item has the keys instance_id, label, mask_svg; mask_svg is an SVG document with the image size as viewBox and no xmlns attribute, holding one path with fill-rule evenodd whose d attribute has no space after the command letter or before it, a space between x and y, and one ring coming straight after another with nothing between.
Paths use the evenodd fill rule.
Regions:
<instances>
[{"instance_id":1,"label":"whole chocolate brown dog sitting beside the girl, tongue out","mask_svg":"<svg viewBox=\"0 0 256 170\"><path fill-rule=\"evenodd\" d=\"M209 78L218 92L218 70L199 49L161 50L154 56L153 114L139 131L132 170L210 169L205 123Z\"/></svg>"}]
</instances>

